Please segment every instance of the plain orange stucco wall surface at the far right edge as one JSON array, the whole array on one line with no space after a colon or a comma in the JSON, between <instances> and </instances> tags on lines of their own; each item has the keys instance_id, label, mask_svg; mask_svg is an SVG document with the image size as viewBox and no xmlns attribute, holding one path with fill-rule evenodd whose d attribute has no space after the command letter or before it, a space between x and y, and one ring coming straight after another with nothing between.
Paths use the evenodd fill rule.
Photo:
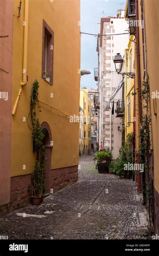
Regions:
<instances>
[{"instance_id":1,"label":"plain orange stucco wall surface at the far right edge","mask_svg":"<svg viewBox=\"0 0 159 256\"><path fill-rule=\"evenodd\" d=\"M154 187L159 192L159 168L158 168L158 154L159 154L159 99L156 99L157 116L153 111L153 98L152 92L159 91L158 86L158 70L159 70L159 1L158 0L145 0L145 30L146 30L146 45L147 45L147 66L150 79L150 108L151 111L151 138L154 157ZM141 5L139 1L139 19L141 19ZM141 79L143 79L143 52L142 52L142 30L140 32L140 55L141 55Z\"/></svg>"}]
</instances>

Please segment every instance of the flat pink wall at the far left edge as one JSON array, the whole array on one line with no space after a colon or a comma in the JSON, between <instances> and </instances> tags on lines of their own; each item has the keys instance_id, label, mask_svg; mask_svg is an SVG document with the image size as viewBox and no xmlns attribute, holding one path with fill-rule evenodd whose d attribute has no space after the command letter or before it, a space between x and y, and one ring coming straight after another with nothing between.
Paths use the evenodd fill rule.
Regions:
<instances>
[{"instance_id":1,"label":"flat pink wall at the far left edge","mask_svg":"<svg viewBox=\"0 0 159 256\"><path fill-rule=\"evenodd\" d=\"M0 8L0 205L10 200L13 0ZM4 93L4 94L2 94Z\"/></svg>"}]
</instances>

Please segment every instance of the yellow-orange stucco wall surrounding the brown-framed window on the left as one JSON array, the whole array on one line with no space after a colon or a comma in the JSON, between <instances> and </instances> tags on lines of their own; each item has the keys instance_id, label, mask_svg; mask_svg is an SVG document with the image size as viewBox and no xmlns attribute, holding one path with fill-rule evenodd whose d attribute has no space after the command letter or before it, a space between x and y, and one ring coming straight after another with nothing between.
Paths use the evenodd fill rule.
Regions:
<instances>
[{"instance_id":1,"label":"yellow-orange stucco wall surrounding the brown-framed window on the left","mask_svg":"<svg viewBox=\"0 0 159 256\"><path fill-rule=\"evenodd\" d=\"M19 0L14 0L17 14ZM50 85L42 78L43 19L54 31L54 79ZM13 100L15 104L22 82L24 1L20 19L14 15L13 25ZM31 88L35 79L40 84L39 100L68 116L78 116L80 97L80 1L29 0L28 70L29 82L22 88L17 109L12 118L11 177L33 172L36 153L33 153L32 131L27 118L30 111ZM53 98L50 94L53 93ZM78 164L79 123L39 102L40 123L47 122L53 139L52 169ZM25 117L26 121L23 121ZM29 124L31 120L29 118ZM25 169L23 169L25 165Z\"/></svg>"}]
</instances>

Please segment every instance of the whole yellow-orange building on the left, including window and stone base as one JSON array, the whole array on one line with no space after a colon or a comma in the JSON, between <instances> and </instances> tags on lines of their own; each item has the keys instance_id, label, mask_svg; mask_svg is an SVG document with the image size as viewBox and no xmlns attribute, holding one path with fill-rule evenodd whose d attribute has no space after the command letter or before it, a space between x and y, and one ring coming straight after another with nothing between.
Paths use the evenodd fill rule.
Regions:
<instances>
[{"instance_id":1,"label":"whole yellow-orange building on the left, including window and stone base","mask_svg":"<svg viewBox=\"0 0 159 256\"><path fill-rule=\"evenodd\" d=\"M80 0L25 0L21 5L19 0L6 0L2 9L6 12L1 13L0 22L5 23L4 15L7 15L8 25L4 24L4 33L7 31L8 38L2 38L0 43L9 72L7 75L1 70L1 82L5 87L5 76L9 77L12 90L8 88L10 131L7 130L8 124L2 129L3 141L5 134L7 140L11 134L11 143L9 148L3 143L4 152L8 154L5 157L8 166L7 170L5 162L1 166L1 183L4 186L0 186L0 194L4 196L0 197L0 205L7 208L10 203L10 208L15 209L27 204L30 198L27 190L36 152L33 150L32 130L29 128L32 124L28 114L36 79L40 85L37 116L46 131L47 192L65 187L78 177L79 123L70 122L70 116L78 116L79 113ZM5 47L12 51L5 51ZM4 158L4 152L1 152L1 158ZM7 190L4 191L5 186Z\"/></svg>"}]
</instances>

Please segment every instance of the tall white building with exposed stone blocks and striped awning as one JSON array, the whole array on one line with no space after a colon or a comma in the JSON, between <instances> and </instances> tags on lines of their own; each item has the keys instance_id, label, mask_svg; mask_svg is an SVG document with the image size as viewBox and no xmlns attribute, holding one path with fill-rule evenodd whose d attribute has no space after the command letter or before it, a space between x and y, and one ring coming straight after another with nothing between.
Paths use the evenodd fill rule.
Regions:
<instances>
[{"instance_id":1,"label":"tall white building with exposed stone blocks and striped awning","mask_svg":"<svg viewBox=\"0 0 159 256\"><path fill-rule=\"evenodd\" d=\"M123 15L124 10L118 10L115 17L101 18L100 32L97 42L99 102L98 104L95 102L95 106L99 108L99 148L101 144L105 149L110 148L114 158L118 155L118 147L121 147L123 136L123 133L118 131L118 126L121 127L122 125L124 108L122 109L123 113L117 115L116 102L117 100L122 99L124 86L119 90L114 98L114 114L112 115L113 103L110 103L111 110L109 111L105 111L104 107L116 87L122 81L122 75L117 74L115 70L113 59L116 53L120 53L121 56L123 56L124 49L127 47L129 35L123 33L128 33L128 24L124 20Z\"/></svg>"}]
</instances>

